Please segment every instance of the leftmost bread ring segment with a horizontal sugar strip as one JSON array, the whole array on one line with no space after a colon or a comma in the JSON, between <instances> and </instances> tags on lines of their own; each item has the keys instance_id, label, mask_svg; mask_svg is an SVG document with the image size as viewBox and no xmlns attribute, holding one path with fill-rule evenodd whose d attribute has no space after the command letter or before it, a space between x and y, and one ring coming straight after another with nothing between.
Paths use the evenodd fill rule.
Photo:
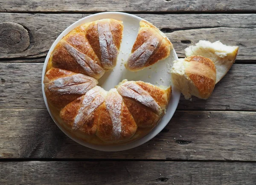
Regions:
<instances>
[{"instance_id":1,"label":"leftmost bread ring segment with a horizontal sugar strip","mask_svg":"<svg viewBox=\"0 0 256 185\"><path fill-rule=\"evenodd\" d=\"M51 68L44 77L47 101L61 109L98 84L95 78L64 69Z\"/></svg>"}]
</instances>

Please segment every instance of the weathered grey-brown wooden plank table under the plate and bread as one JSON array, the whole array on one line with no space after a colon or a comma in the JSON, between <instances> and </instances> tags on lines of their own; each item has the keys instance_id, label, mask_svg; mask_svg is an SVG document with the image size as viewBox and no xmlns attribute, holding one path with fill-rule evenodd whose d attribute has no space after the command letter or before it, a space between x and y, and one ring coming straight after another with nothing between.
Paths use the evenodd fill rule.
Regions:
<instances>
[{"instance_id":1,"label":"weathered grey-brown wooden plank table under the plate and bread","mask_svg":"<svg viewBox=\"0 0 256 185\"><path fill-rule=\"evenodd\" d=\"M239 46L236 64L208 100L182 97L170 123L144 145L83 147L50 118L41 72L67 26L104 11L150 21L179 57L198 40ZM256 185L256 0L1 0L0 12L1 185Z\"/></svg>"}]
</instances>

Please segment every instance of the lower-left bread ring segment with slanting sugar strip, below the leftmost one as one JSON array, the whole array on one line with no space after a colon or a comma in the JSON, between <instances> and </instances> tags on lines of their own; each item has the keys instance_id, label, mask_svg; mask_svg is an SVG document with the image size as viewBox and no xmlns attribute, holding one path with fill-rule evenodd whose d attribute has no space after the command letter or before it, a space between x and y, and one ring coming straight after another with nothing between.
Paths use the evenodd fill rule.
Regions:
<instances>
[{"instance_id":1,"label":"lower-left bread ring segment with slanting sugar strip, below the leftmost one","mask_svg":"<svg viewBox=\"0 0 256 185\"><path fill-rule=\"evenodd\" d=\"M99 86L92 88L85 95L67 104L60 111L60 118L72 132L94 135L106 94L107 92Z\"/></svg>"}]
</instances>

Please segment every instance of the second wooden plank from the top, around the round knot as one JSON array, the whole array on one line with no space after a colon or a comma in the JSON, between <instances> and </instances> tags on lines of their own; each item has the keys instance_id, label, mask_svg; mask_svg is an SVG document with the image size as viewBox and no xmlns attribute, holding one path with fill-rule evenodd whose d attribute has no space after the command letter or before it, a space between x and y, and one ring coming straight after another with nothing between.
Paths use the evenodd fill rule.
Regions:
<instances>
[{"instance_id":1,"label":"second wooden plank from the top, around the round knot","mask_svg":"<svg viewBox=\"0 0 256 185\"><path fill-rule=\"evenodd\" d=\"M6 62L6 59L14 58L19 61L19 58L46 56L58 35L67 26L87 15L1 13L0 22L18 23L28 30L30 45L22 52L0 50L0 60ZM256 14L138 14L138 16L166 32L179 57L185 56L184 49L187 46L197 43L198 40L207 39L221 40L226 44L239 46L237 60L256 60Z\"/></svg>"}]
</instances>

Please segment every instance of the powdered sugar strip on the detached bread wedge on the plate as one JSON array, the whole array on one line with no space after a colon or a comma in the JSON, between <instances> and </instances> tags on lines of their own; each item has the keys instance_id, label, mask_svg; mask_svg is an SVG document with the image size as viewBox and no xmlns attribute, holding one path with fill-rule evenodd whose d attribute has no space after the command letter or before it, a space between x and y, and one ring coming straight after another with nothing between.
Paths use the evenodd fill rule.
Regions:
<instances>
[{"instance_id":1,"label":"powdered sugar strip on the detached bread wedge on the plate","mask_svg":"<svg viewBox=\"0 0 256 185\"><path fill-rule=\"evenodd\" d=\"M161 45L160 38L151 36L148 40L143 43L135 52L133 52L127 61L127 67L129 69L143 69L148 62L148 59L154 52L157 51Z\"/></svg>"}]
</instances>

